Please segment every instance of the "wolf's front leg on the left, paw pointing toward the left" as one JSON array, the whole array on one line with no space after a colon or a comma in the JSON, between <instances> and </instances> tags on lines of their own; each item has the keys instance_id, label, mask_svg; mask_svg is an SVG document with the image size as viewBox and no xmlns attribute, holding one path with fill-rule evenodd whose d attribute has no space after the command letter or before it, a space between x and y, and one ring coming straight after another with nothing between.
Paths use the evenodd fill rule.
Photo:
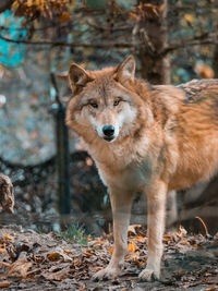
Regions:
<instances>
[{"instance_id":1,"label":"wolf's front leg on the left, paw pointing toward the left","mask_svg":"<svg viewBox=\"0 0 218 291\"><path fill-rule=\"evenodd\" d=\"M113 279L121 272L124 255L128 251L128 226L130 222L133 194L121 190L110 190L113 216L113 253L109 265L94 275L94 279Z\"/></svg>"}]
</instances>

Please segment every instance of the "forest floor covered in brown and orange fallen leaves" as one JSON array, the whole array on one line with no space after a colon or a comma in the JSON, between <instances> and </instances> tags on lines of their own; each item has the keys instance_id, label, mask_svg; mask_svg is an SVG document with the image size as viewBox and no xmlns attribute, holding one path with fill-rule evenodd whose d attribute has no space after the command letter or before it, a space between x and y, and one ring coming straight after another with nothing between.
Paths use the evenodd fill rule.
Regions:
<instances>
[{"instance_id":1,"label":"forest floor covered in brown and orange fallen leaves","mask_svg":"<svg viewBox=\"0 0 218 291\"><path fill-rule=\"evenodd\" d=\"M2 290L218 290L218 233L189 235L181 227L164 235L165 254L159 281L141 282L146 265L147 237L141 226L129 228L129 253L123 274L95 282L112 253L112 235L72 243L55 232L37 233L22 227L0 230Z\"/></svg>"}]
</instances>

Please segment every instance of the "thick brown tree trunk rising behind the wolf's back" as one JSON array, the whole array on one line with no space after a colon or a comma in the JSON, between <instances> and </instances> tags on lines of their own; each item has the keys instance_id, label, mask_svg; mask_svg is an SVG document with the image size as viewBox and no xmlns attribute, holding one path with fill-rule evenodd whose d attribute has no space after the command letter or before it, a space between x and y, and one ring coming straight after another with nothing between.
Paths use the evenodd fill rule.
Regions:
<instances>
[{"instance_id":1,"label":"thick brown tree trunk rising behind the wolf's back","mask_svg":"<svg viewBox=\"0 0 218 291\"><path fill-rule=\"evenodd\" d=\"M161 52L168 44L167 0L140 0L141 75L152 84L170 84L170 62Z\"/></svg>"}]
</instances>

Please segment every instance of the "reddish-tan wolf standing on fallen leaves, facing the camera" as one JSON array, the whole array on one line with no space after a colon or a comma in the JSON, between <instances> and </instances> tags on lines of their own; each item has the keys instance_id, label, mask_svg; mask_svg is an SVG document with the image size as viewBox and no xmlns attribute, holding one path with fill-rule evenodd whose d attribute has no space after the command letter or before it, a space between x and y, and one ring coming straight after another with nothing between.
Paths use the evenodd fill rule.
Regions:
<instances>
[{"instance_id":1,"label":"reddish-tan wolf standing on fallen leaves, facing the camera","mask_svg":"<svg viewBox=\"0 0 218 291\"><path fill-rule=\"evenodd\" d=\"M73 63L73 98L66 124L84 140L109 187L114 247L95 279L121 274L128 250L131 204L147 197L148 258L140 278L158 279L166 201L171 191L207 181L218 171L218 80L179 86L150 85L135 77L135 59L96 71Z\"/></svg>"}]
</instances>

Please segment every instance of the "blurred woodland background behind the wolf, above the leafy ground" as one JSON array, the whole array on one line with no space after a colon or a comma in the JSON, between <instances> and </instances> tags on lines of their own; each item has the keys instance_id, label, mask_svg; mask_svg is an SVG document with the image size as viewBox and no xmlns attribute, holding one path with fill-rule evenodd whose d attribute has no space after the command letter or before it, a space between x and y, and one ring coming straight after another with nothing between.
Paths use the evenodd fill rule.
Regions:
<instances>
[{"instance_id":1,"label":"blurred woodland background behind the wolf, above the leafy ground","mask_svg":"<svg viewBox=\"0 0 218 291\"><path fill-rule=\"evenodd\" d=\"M107 189L64 125L66 74L71 62L95 70L130 53L136 75L153 84L218 77L218 2L0 1L0 172L15 189L14 215L1 213L1 225L49 231L74 222L95 234L110 231ZM198 216L215 233L217 191L215 178L178 193L169 226L204 232ZM133 223L144 221L142 199L134 202Z\"/></svg>"}]
</instances>

